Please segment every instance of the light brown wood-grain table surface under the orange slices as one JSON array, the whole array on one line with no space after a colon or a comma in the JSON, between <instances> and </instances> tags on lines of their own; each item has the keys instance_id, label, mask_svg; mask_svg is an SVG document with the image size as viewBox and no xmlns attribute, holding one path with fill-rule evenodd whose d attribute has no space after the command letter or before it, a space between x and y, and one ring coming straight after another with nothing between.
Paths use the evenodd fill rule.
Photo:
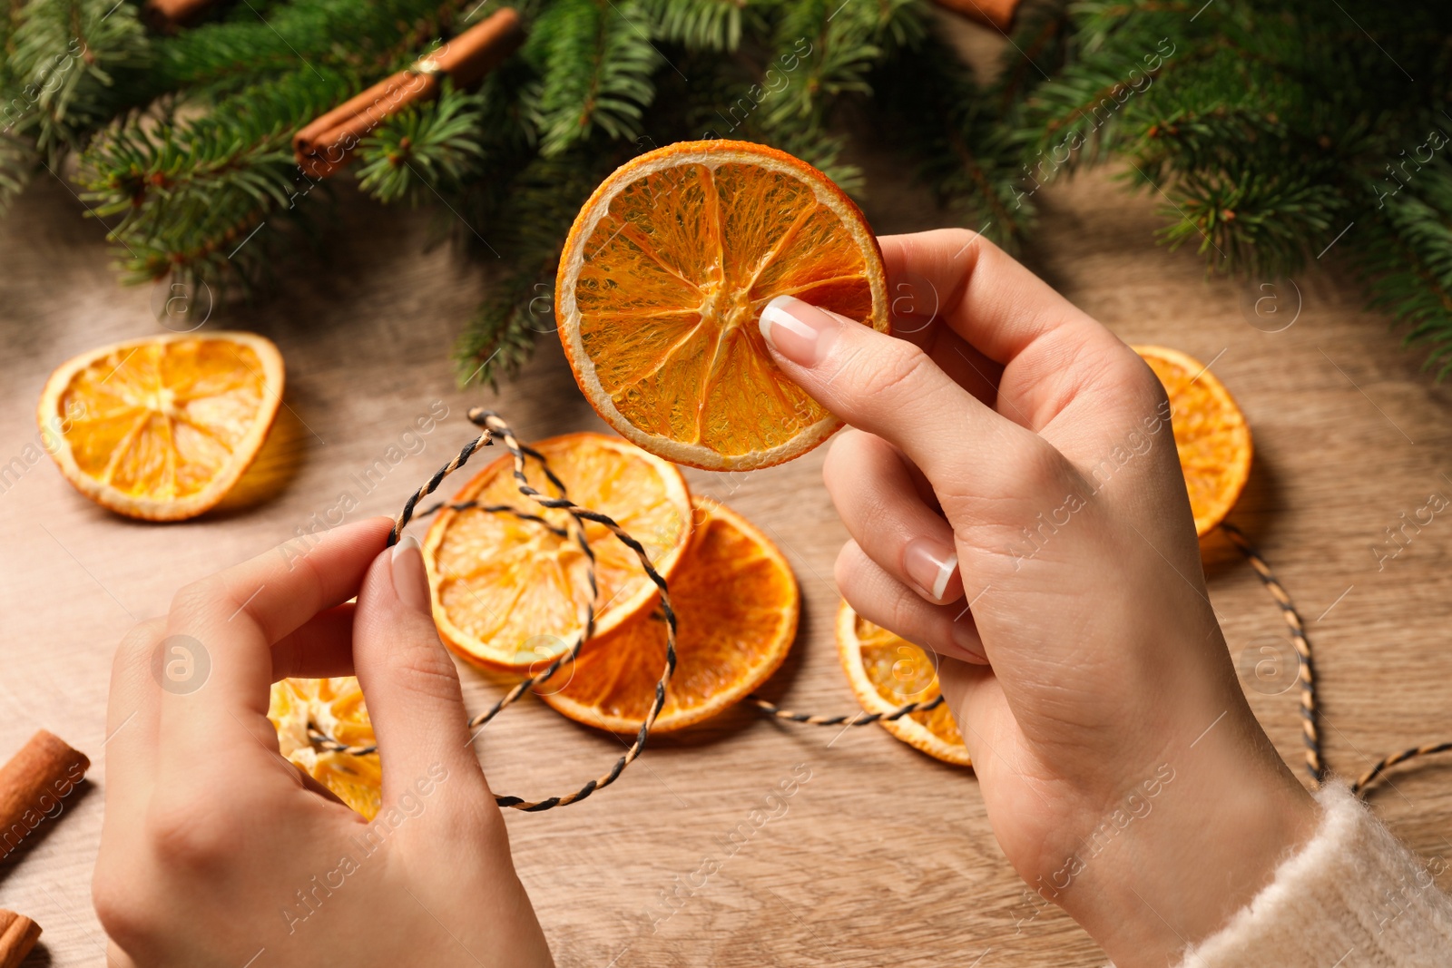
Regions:
<instances>
[{"instance_id":1,"label":"light brown wood-grain table surface under the orange slices","mask_svg":"<svg viewBox=\"0 0 1452 968\"><path fill-rule=\"evenodd\" d=\"M867 210L883 232L939 222L890 161L868 158ZM1334 274L1281 286L1265 332L1244 306L1272 296L1207 282L1191 253L1154 245L1153 196L1092 176L1044 190L1031 264L1128 341L1163 343L1205 361L1237 395L1256 435L1256 467L1234 514L1300 602L1318 649L1330 763L1353 775L1384 752L1452 734L1452 521L1439 515L1378 569L1372 551L1446 472L1452 387L1417 370L1387 321ZM78 218L55 180L39 181L0 222L0 463L35 440L48 372L113 340L158 331L147 289L121 289L100 228ZM102 820L102 743L110 653L136 620L163 612L184 582L266 550L337 504L393 514L468 438L473 403L502 409L527 437L598 428L553 337L495 395L457 392L447 348L482 293L478 270L423 253L421 216L344 199L321 260L283 270L280 293L216 313L209 327L256 329L287 361L287 406L242 492L197 521L151 525L77 495L42 459L0 493L0 753L49 729L96 760L89 792L0 866L0 906L45 927L28 965L102 961L90 872ZM1352 229L1355 231L1355 229ZM386 257L378 239L395 239ZM1300 302L1300 315L1297 312ZM1269 309L1268 303L1262 309ZM363 493L353 475L436 401L449 417L421 453ZM804 594L800 637L771 692L794 708L855 708L832 646L832 562L847 537L820 486L823 451L751 475L690 473L697 491L761 524ZM1230 647L1284 640L1250 569L1207 546L1210 588ZM463 669L479 708L499 685ZM1252 704L1300 769L1295 692ZM614 758L620 740L521 702L479 743L495 789L569 789ZM723 840L803 765L810 779L784 811L727 858ZM1398 771L1378 810L1426 856L1452 855L1452 769ZM652 743L614 788L540 816L510 813L520 874L560 965L1098 965L1102 953L1066 916L1035 908L999 852L973 774L931 760L877 727L835 730L738 710ZM681 888L703 858L723 861ZM1448 875L1443 875L1443 881ZM977 961L974 961L977 959Z\"/></svg>"}]
</instances>

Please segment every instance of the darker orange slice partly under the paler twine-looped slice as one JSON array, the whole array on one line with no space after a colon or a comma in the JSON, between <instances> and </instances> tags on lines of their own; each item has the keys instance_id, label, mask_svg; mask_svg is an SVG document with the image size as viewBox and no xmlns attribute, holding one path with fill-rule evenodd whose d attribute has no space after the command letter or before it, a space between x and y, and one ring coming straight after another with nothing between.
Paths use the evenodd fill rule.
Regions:
<instances>
[{"instance_id":1,"label":"darker orange slice partly under the paler twine-looped slice","mask_svg":"<svg viewBox=\"0 0 1452 968\"><path fill-rule=\"evenodd\" d=\"M669 579L677 666L655 720L671 733L735 705L771 678L797 633L800 592L787 559L723 504L693 499L696 534ZM665 617L642 612L590 646L536 692L569 718L617 733L640 729L665 665Z\"/></svg>"}]
</instances>

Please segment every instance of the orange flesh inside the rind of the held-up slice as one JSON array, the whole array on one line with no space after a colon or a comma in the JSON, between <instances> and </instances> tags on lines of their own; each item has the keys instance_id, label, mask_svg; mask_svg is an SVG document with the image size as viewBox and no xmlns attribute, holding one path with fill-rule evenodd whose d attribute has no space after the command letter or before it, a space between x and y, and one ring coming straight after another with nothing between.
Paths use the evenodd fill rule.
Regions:
<instances>
[{"instance_id":1,"label":"orange flesh inside the rind of the held-up slice","mask_svg":"<svg viewBox=\"0 0 1452 968\"><path fill-rule=\"evenodd\" d=\"M627 184L585 244L575 289L595 374L636 427L722 454L767 450L828 414L786 379L756 325L794 295L867 319L862 254L812 186L727 163Z\"/></svg>"}]
</instances>

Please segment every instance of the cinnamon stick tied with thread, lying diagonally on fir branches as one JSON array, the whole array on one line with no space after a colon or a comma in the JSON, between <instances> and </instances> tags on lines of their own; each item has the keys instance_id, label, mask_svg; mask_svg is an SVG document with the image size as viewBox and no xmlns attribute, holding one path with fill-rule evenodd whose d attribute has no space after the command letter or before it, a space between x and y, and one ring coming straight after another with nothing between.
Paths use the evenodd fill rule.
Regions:
<instances>
[{"instance_id":1,"label":"cinnamon stick tied with thread, lying diagonally on fir branches","mask_svg":"<svg viewBox=\"0 0 1452 968\"><path fill-rule=\"evenodd\" d=\"M408 70L380 80L292 136L302 170L325 179L348 163L357 144L389 115L439 93L443 77L468 87L498 67L520 45L520 15L501 7Z\"/></svg>"}]
</instances>

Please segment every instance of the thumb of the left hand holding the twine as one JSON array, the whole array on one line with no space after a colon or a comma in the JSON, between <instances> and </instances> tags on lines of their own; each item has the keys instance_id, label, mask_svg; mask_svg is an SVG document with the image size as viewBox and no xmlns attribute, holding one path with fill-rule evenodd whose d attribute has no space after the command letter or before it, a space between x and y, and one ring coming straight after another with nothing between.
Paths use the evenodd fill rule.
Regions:
<instances>
[{"instance_id":1,"label":"thumb of the left hand holding the twine","mask_svg":"<svg viewBox=\"0 0 1452 968\"><path fill-rule=\"evenodd\" d=\"M363 578L353 666L378 736L385 805L444 779L460 788L478 784L488 794L469 742L459 672L439 641L412 537L383 549Z\"/></svg>"}]
</instances>

